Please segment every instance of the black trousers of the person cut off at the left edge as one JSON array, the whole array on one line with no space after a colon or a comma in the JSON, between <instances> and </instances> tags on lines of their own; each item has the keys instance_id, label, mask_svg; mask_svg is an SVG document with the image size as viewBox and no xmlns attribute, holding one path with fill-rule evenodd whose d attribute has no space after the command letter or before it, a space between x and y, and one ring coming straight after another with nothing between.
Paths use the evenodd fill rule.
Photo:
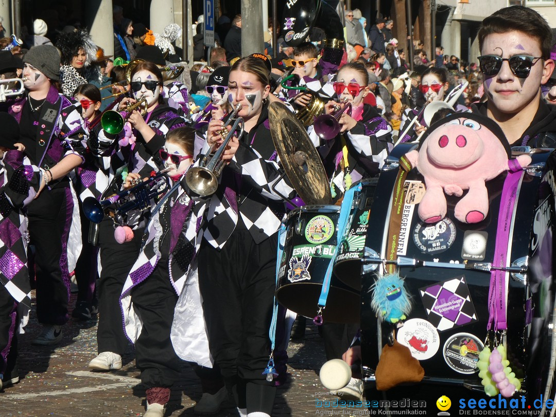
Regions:
<instances>
[{"instance_id":1,"label":"black trousers of the person cut off at the left edge","mask_svg":"<svg viewBox=\"0 0 556 417\"><path fill-rule=\"evenodd\" d=\"M0 285L0 374L11 373L17 358L17 302ZM14 378L17 375L13 375Z\"/></svg>"}]
</instances>

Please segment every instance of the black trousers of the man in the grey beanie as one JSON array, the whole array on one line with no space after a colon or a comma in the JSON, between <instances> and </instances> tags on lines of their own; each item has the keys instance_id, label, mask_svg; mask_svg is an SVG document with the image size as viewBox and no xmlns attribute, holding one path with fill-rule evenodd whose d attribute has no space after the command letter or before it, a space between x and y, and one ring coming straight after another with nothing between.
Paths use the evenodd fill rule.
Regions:
<instances>
[{"instance_id":1,"label":"black trousers of the man in the grey beanie","mask_svg":"<svg viewBox=\"0 0 556 417\"><path fill-rule=\"evenodd\" d=\"M45 189L27 209L29 237L36 250L37 318L47 325L62 325L68 320L69 282L64 282L60 266L62 255L65 256L62 236L69 227L66 193L67 187Z\"/></svg>"}]
</instances>

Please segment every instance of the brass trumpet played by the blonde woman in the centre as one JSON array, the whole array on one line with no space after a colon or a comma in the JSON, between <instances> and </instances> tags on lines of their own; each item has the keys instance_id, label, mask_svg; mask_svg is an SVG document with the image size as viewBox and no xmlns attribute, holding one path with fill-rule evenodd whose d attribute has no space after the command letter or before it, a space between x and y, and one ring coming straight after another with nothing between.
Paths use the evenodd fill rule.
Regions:
<instances>
[{"instance_id":1,"label":"brass trumpet played by the blonde woman in the centre","mask_svg":"<svg viewBox=\"0 0 556 417\"><path fill-rule=\"evenodd\" d=\"M230 116L224 122L224 127L219 133L221 136L226 135L226 137L219 148L215 151L215 145L213 145L210 151L203 156L199 166L190 168L185 175L187 186L201 197L210 196L215 193L216 188L218 188L218 177L222 173L222 168L224 168L224 161L221 159L222 153L226 150L228 142L234 136L238 126L241 125L237 136L240 137L244 132L245 126L242 117L236 119L230 130L226 127L234 120L240 110L241 103L237 103L234 111L230 113ZM209 156L211 156L210 160Z\"/></svg>"}]
</instances>

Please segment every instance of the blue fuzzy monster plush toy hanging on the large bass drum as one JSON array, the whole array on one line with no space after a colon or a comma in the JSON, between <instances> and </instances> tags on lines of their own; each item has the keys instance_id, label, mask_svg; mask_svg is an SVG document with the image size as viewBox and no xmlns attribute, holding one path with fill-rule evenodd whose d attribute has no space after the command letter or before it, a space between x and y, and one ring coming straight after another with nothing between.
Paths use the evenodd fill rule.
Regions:
<instances>
[{"instance_id":1,"label":"blue fuzzy monster plush toy hanging on the large bass drum","mask_svg":"<svg viewBox=\"0 0 556 417\"><path fill-rule=\"evenodd\" d=\"M378 277L373 285L371 308L377 316L391 323L406 319L411 311L411 301L404 280L398 274Z\"/></svg>"}]
</instances>

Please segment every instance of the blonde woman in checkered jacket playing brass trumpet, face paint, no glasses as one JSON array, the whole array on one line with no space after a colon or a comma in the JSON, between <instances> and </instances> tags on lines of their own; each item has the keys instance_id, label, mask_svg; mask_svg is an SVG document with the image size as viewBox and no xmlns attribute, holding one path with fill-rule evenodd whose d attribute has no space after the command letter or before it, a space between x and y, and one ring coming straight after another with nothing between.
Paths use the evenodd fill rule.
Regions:
<instances>
[{"instance_id":1,"label":"blonde woman in checkered jacket playing brass trumpet, face paint, no glasses","mask_svg":"<svg viewBox=\"0 0 556 417\"><path fill-rule=\"evenodd\" d=\"M275 290L276 233L284 201L294 189L282 179L268 124L269 70L249 56L232 66L232 107L241 104L244 134L232 138L220 186L210 198L198 251L199 286L209 346L240 415L270 415L276 388L263 375L269 360L269 327ZM277 100L274 97L274 100ZM222 142L224 126L209 123L206 146Z\"/></svg>"}]
</instances>

